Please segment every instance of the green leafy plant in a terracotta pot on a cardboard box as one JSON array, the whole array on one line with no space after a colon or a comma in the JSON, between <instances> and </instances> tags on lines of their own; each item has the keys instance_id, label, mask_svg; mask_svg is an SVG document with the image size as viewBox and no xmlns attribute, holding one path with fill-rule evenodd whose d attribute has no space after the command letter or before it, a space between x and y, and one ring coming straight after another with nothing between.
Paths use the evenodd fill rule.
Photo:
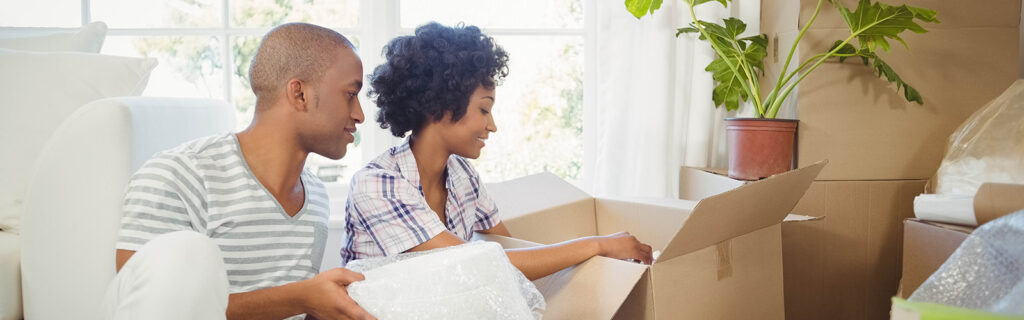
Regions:
<instances>
[{"instance_id":1,"label":"green leafy plant in a terracotta pot on a cardboard box","mask_svg":"<svg viewBox=\"0 0 1024 320\"><path fill-rule=\"evenodd\" d=\"M869 66L880 77L895 83L897 91L903 89L903 96L907 102L924 105L924 98L918 90L904 82L874 52L878 48L888 51L890 40L907 47L899 35L907 30L914 33L927 32L918 23L938 23L936 11L908 5L892 6L869 0L859 0L857 7L850 10L840 0L828 0L846 21L850 36L836 40L827 51L807 58L790 71L790 64L800 40L824 5L825 0L818 0L811 18L797 35L774 87L767 96L761 96L762 86L758 75L763 73L768 38L765 35L741 37L746 30L746 24L742 21L729 17L719 25L698 19L693 10L693 7L708 2L728 6L731 1L683 0L689 6L693 23L676 32L676 37L697 34L717 53L716 58L705 69L712 73L715 80L712 98L716 108L725 106L726 110L736 110L740 102L753 99L757 109L757 118L726 119L730 177L758 179L793 168L798 121L775 119L775 116L793 89L829 58L837 58L842 63L850 57L859 57L864 66ZM660 6L662 0L626 0L627 9L637 18L653 14Z\"/></svg>"}]
</instances>

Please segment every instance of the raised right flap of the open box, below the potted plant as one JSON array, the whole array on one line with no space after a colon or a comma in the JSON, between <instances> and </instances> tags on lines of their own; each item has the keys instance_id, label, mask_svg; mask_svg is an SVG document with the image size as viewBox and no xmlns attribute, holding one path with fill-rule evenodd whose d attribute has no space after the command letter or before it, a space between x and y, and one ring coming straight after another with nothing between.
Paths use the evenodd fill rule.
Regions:
<instances>
[{"instance_id":1,"label":"raised right flap of the open box, below the potted plant","mask_svg":"<svg viewBox=\"0 0 1024 320\"><path fill-rule=\"evenodd\" d=\"M826 163L821 161L700 200L658 261L782 222Z\"/></svg>"}]
</instances>

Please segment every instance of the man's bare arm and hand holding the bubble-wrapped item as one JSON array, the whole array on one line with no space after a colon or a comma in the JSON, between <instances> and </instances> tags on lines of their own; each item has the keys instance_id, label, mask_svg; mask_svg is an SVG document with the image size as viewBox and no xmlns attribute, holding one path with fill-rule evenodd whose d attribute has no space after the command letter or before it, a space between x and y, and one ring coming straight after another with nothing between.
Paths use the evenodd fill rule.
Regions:
<instances>
[{"instance_id":1,"label":"man's bare arm and hand holding the bubble-wrapped item","mask_svg":"<svg viewBox=\"0 0 1024 320\"><path fill-rule=\"evenodd\" d=\"M118 249L120 272L135 251ZM308 280L249 292L232 293L227 298L227 319L280 320L298 314L316 319L374 319L348 296L348 284L362 280L362 275L343 268L323 272Z\"/></svg>"}]
</instances>

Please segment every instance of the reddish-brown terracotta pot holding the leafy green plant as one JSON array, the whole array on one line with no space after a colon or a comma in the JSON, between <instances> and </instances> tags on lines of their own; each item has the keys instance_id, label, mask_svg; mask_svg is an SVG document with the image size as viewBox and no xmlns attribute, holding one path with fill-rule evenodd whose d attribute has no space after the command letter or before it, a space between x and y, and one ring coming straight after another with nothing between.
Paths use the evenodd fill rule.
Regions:
<instances>
[{"instance_id":1,"label":"reddish-brown terracotta pot holding the leafy green plant","mask_svg":"<svg viewBox=\"0 0 1024 320\"><path fill-rule=\"evenodd\" d=\"M729 177L756 181L793 169L799 120L725 119Z\"/></svg>"}]
</instances>

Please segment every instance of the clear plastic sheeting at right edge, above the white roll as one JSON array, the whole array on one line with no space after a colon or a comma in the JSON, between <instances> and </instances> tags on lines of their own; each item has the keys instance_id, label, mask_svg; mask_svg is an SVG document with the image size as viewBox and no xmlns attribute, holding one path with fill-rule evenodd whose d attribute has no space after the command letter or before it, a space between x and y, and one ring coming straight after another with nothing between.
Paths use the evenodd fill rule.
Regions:
<instances>
[{"instance_id":1,"label":"clear plastic sheeting at right edge, above the white roll","mask_svg":"<svg viewBox=\"0 0 1024 320\"><path fill-rule=\"evenodd\" d=\"M974 113L949 136L937 194L971 195L984 183L1024 184L1024 79Z\"/></svg>"}]
</instances>

